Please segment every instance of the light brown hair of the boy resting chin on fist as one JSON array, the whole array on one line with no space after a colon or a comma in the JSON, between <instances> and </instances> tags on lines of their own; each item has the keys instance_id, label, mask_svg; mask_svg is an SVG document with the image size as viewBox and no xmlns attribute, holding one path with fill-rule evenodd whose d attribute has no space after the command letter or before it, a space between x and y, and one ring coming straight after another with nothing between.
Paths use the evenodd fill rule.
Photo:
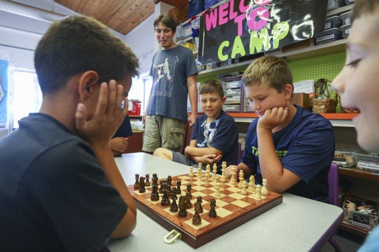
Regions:
<instances>
[{"instance_id":1,"label":"light brown hair of the boy resting chin on fist","mask_svg":"<svg viewBox=\"0 0 379 252\"><path fill-rule=\"evenodd\" d=\"M242 75L242 85L250 87L263 82L276 89L278 93L283 92L287 84L293 86L287 62L275 56L263 56L252 62Z\"/></svg>"}]
</instances>

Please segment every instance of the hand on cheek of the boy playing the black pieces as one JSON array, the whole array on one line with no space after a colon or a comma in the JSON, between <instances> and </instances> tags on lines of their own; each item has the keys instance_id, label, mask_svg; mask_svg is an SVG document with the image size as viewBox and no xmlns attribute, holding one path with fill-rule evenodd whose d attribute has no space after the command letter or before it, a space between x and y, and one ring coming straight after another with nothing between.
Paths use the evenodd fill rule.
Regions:
<instances>
[{"instance_id":1,"label":"hand on cheek of the boy playing the black pieces","mask_svg":"<svg viewBox=\"0 0 379 252\"><path fill-rule=\"evenodd\" d=\"M91 144L109 144L111 137L121 125L128 113L128 106L121 109L124 99L123 87L116 85L114 80L103 82L100 85L99 99L92 118L86 120L86 108L83 104L77 104L76 129L80 135ZM127 104L125 98L125 104Z\"/></svg>"}]
</instances>

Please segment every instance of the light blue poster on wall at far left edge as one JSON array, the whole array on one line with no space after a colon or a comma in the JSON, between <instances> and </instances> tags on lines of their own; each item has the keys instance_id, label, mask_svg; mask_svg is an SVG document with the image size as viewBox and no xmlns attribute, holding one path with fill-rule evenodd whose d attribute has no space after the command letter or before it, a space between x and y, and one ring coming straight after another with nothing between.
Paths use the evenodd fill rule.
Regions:
<instances>
[{"instance_id":1,"label":"light blue poster on wall at far left edge","mask_svg":"<svg viewBox=\"0 0 379 252\"><path fill-rule=\"evenodd\" d=\"M0 127L7 123L9 51L0 49Z\"/></svg>"}]
</instances>

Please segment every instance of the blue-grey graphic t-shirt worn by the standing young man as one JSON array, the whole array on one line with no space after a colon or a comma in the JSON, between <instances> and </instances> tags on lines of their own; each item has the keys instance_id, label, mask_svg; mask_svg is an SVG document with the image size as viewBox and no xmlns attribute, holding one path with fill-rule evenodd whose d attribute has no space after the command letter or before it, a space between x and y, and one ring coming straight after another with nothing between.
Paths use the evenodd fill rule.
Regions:
<instances>
[{"instance_id":1,"label":"blue-grey graphic t-shirt worn by the standing young man","mask_svg":"<svg viewBox=\"0 0 379 252\"><path fill-rule=\"evenodd\" d=\"M193 53L184 46L159 50L152 59L152 93L147 115L187 122L187 78L197 73Z\"/></svg>"}]
</instances>

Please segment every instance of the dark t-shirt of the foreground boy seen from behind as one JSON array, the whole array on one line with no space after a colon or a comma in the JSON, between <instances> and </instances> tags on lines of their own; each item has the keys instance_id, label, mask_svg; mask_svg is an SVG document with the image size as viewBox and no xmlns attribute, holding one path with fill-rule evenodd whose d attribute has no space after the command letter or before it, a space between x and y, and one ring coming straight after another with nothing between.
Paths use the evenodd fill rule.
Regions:
<instances>
[{"instance_id":1,"label":"dark t-shirt of the foreground boy seen from behind","mask_svg":"<svg viewBox=\"0 0 379 252\"><path fill-rule=\"evenodd\" d=\"M91 146L32 113L0 140L0 250L100 251L127 211Z\"/></svg>"}]
</instances>

